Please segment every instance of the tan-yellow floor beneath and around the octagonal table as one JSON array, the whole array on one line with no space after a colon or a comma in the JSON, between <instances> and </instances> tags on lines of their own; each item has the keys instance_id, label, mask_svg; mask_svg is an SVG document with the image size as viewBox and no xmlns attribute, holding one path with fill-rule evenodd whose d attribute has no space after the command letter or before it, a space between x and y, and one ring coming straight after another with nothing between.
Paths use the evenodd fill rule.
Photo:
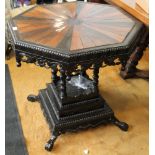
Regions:
<instances>
[{"instance_id":1,"label":"tan-yellow floor beneath and around the octagonal table","mask_svg":"<svg viewBox=\"0 0 155 155\"><path fill-rule=\"evenodd\" d=\"M122 121L129 124L129 131L123 132L116 126L100 126L78 133L66 133L55 142L52 152L44 150L50 138L48 124L39 103L27 101L27 96L37 94L51 81L50 70L23 63L15 65L15 58L8 63L13 81L17 106L24 136L30 155L148 155L148 86L147 80L123 80L119 76L120 66L105 67L100 70L99 89ZM148 51L138 67L148 69Z\"/></svg>"}]
</instances>

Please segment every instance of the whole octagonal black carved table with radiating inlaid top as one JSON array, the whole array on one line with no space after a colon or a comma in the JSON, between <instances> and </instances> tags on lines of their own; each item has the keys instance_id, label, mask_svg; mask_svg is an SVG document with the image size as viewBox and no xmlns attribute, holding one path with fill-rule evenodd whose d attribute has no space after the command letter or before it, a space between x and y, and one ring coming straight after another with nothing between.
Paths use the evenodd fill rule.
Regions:
<instances>
[{"instance_id":1,"label":"whole octagonal black carved table with radiating inlaid top","mask_svg":"<svg viewBox=\"0 0 155 155\"><path fill-rule=\"evenodd\" d=\"M28 96L40 102L51 127L47 150L67 131L105 123L128 130L99 93L99 69L118 64L124 69L143 39L141 22L117 7L72 2L35 6L14 17L8 27L17 66L23 61L52 70L47 88Z\"/></svg>"}]
</instances>

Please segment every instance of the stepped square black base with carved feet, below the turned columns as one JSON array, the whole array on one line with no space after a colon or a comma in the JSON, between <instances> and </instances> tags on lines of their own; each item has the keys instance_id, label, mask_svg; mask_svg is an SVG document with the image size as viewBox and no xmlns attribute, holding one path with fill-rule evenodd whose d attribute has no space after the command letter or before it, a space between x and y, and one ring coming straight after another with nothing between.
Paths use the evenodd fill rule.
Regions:
<instances>
[{"instance_id":1,"label":"stepped square black base with carved feet, below the turned columns","mask_svg":"<svg viewBox=\"0 0 155 155\"><path fill-rule=\"evenodd\" d=\"M115 124L123 131L128 130L128 125L116 119L106 101L94 93L91 86L83 91L74 84L67 83L66 86L68 97L64 99L60 97L59 81L58 85L47 84L47 88L40 90L38 96L28 96L29 101L40 102L49 123L52 137L45 145L46 150L51 151L57 137L65 132L76 132L101 124ZM76 97L75 94L77 94Z\"/></svg>"}]
</instances>

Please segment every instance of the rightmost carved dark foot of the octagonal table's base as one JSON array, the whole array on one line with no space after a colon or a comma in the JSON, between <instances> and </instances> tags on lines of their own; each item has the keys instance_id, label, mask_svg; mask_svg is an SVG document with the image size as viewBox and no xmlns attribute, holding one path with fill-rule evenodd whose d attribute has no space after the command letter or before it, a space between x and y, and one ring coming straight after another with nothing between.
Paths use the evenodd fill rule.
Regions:
<instances>
[{"instance_id":1,"label":"rightmost carved dark foot of the octagonal table's base","mask_svg":"<svg viewBox=\"0 0 155 155\"><path fill-rule=\"evenodd\" d=\"M112 124L118 126L121 130L123 130L123 131L128 131L128 128L129 128L128 124L125 123L125 122L119 121L116 117L110 118L110 122L111 122Z\"/></svg>"}]
</instances>

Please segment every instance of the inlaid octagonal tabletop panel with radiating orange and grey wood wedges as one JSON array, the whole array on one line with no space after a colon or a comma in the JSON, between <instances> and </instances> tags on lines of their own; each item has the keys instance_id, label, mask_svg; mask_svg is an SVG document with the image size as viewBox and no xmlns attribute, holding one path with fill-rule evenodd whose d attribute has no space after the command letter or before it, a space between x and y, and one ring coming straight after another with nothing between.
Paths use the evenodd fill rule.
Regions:
<instances>
[{"instance_id":1,"label":"inlaid octagonal tabletop panel with radiating orange and grey wood wedges","mask_svg":"<svg viewBox=\"0 0 155 155\"><path fill-rule=\"evenodd\" d=\"M81 2L36 6L13 21L20 40L70 51L121 43L135 25L116 7Z\"/></svg>"}]
</instances>

